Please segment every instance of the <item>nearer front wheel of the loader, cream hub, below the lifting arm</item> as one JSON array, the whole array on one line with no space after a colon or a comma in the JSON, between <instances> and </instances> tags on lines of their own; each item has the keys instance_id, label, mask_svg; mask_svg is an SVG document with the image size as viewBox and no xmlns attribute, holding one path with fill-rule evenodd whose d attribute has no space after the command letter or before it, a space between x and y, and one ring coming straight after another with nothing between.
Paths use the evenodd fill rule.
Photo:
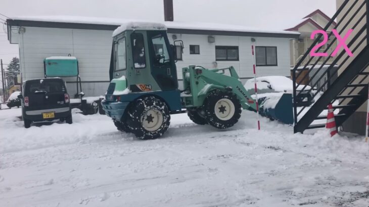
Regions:
<instances>
[{"instance_id":1,"label":"nearer front wheel of the loader, cream hub, below the lifting arm","mask_svg":"<svg viewBox=\"0 0 369 207\"><path fill-rule=\"evenodd\" d=\"M226 129L238 122L241 117L241 107L241 103L234 93L213 90L204 101L205 119L215 128Z\"/></svg>"}]
</instances>

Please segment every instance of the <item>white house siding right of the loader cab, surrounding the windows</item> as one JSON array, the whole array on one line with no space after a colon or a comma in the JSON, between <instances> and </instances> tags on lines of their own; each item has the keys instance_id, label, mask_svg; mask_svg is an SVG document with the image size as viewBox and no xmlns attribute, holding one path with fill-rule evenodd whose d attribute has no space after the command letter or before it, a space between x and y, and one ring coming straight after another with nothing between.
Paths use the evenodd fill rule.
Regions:
<instances>
[{"instance_id":1,"label":"white house siding right of the loader cab, surrounding the windows","mask_svg":"<svg viewBox=\"0 0 369 207\"><path fill-rule=\"evenodd\" d=\"M169 40L173 34L168 34ZM215 42L208 42L208 35L175 34L178 40L184 43L182 61L178 61L178 79L182 79L181 70L189 65L197 65L205 68L226 68L234 66L239 76L243 78L253 77L251 44L255 46L276 46L278 66L257 67L258 76L281 75L290 76L290 45L288 38L251 37L241 36L215 36ZM200 45L200 55L190 55L190 44ZM239 61L216 61L215 46L239 46ZM214 64L216 62L216 65Z\"/></svg>"}]
</instances>

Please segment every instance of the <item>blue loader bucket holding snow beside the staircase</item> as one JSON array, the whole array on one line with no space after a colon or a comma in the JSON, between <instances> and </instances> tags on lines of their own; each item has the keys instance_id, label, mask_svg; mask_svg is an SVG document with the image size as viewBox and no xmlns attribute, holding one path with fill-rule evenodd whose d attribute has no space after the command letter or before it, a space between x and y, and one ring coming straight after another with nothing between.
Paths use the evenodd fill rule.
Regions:
<instances>
[{"instance_id":1,"label":"blue loader bucket holding snow beside the staircase","mask_svg":"<svg viewBox=\"0 0 369 207\"><path fill-rule=\"evenodd\" d=\"M281 121L285 124L294 123L292 94L276 93L275 95L258 98L261 116Z\"/></svg>"}]
</instances>

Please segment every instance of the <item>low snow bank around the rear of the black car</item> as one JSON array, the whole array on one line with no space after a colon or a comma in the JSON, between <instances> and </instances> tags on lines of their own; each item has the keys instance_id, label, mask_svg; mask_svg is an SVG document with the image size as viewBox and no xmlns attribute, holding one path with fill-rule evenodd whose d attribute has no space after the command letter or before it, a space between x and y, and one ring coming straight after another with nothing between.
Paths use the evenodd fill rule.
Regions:
<instances>
[{"instance_id":1,"label":"low snow bank around the rear of the black car","mask_svg":"<svg viewBox=\"0 0 369 207\"><path fill-rule=\"evenodd\" d=\"M0 133L0 139L2 144L0 145L0 153L101 140L102 137L99 134L114 132L116 129L108 116L98 114L84 116L74 113L71 125L49 122L48 124L33 124L29 129L24 128L21 119L21 108L1 111L0 128L2 133Z\"/></svg>"}]
</instances>

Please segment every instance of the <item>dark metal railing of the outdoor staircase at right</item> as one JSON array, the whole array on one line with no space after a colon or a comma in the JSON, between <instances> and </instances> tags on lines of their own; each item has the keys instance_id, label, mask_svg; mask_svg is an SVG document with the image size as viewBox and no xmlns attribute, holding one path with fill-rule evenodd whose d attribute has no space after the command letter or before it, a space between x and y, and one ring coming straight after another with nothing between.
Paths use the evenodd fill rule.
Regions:
<instances>
[{"instance_id":1,"label":"dark metal railing of the outdoor staircase at right","mask_svg":"<svg viewBox=\"0 0 369 207\"><path fill-rule=\"evenodd\" d=\"M332 17L332 19L329 21L329 23L324 27L324 31L328 32L328 29L331 28L332 26L334 26L334 29L336 29L336 30L337 30L337 28L339 28L338 33L341 35L341 33L343 33L343 31L345 29L353 29L354 33L355 33L355 36L352 37L352 39L347 44L347 46L351 49L352 53L354 53L358 49L358 47L360 45L362 45L362 43L365 40L367 42L369 41L368 40L369 35L364 35L363 38L360 38L362 36L362 33L365 30L369 31L367 29L367 26L369 24L366 24L366 22L369 21L369 15L366 15L369 11L369 0L361 0L361 1L355 0L355 1L350 1L350 3L352 3L352 4L348 4L348 3L349 3L349 0L346 0L346 1L343 2L343 4L340 6L340 8L337 10L337 12ZM364 8L365 5L366 5L366 7ZM356 9L355 6L358 6L358 8ZM355 9L353 10L353 8L355 8ZM364 12L362 11L362 8L364 8ZM363 12L362 15L361 15L361 13L359 14L360 11ZM343 15L340 16L340 19L337 22L337 24L334 24L334 20L339 15L341 15L341 13ZM364 19L365 16L366 16L366 19ZM354 18L356 18L356 19L354 19ZM357 18L358 18L358 20L357 20ZM365 24L362 27L358 26L360 23L362 23L363 20L365 21ZM353 21L355 21L355 24L352 27L347 28L350 23L353 23ZM359 28L357 28L357 27L359 27ZM332 35L333 35L333 32L329 31L328 38L330 38ZM338 56L332 57L331 55L332 55L334 49L332 50L332 53L329 54L328 57L310 57L310 55L309 55L310 51L318 43L321 36L322 36L322 34L317 35L317 37L315 38L315 40L313 41L311 46L308 48L308 50L302 56L302 58L299 59L299 62L296 64L296 66L292 70L295 126L298 124L299 115L305 116L305 115L302 115L301 113L306 108L306 107L298 107L299 106L299 102L298 102L299 101L299 98L298 98L299 93L302 92L302 91L304 91L304 93L306 93L306 92L311 93L314 90L314 93L312 93L312 96L313 96L312 98L315 98L317 96L317 94L319 94L319 91L321 91L324 88L328 88L330 86L331 82L333 82L333 79L335 77L337 77L336 74L338 73L338 71L344 65L344 64L337 65L338 61L340 61L341 58L344 55L346 56L346 58L344 59L344 61L342 61L342 63L345 63L348 60L348 58L350 58L346 54L345 50L342 50L339 53ZM334 43L336 41L337 41L336 38L334 38L334 40L332 40L328 44L326 49L324 49L324 53L327 53L327 51L332 47L332 45L334 45ZM367 44L367 42L366 42L366 44ZM354 43L355 43L355 47L351 48L350 46L354 45ZM323 61L321 61L321 59L323 59ZM330 59L334 59L334 60L330 61ZM318 63L322 63L322 64L317 66ZM328 68L327 68L327 66L328 66ZM307 73L298 73L299 71L304 71L304 70L307 70ZM321 71L321 70L324 70L324 71ZM314 71L314 72L311 75L310 73L312 71ZM315 78L318 74L319 74L319 76L317 78ZM326 79L322 80L322 78L324 78L324 77L326 77ZM297 80L299 80L299 82L297 82ZM301 83L304 83L305 85L300 86ZM306 89L308 85L311 88ZM317 85L319 85L319 86L317 86ZM300 88L297 91L297 88L299 86L300 86ZM316 86L318 88L316 88ZM302 87L302 89L301 89L301 87ZM341 102L342 101L343 100L341 100Z\"/></svg>"}]
</instances>

